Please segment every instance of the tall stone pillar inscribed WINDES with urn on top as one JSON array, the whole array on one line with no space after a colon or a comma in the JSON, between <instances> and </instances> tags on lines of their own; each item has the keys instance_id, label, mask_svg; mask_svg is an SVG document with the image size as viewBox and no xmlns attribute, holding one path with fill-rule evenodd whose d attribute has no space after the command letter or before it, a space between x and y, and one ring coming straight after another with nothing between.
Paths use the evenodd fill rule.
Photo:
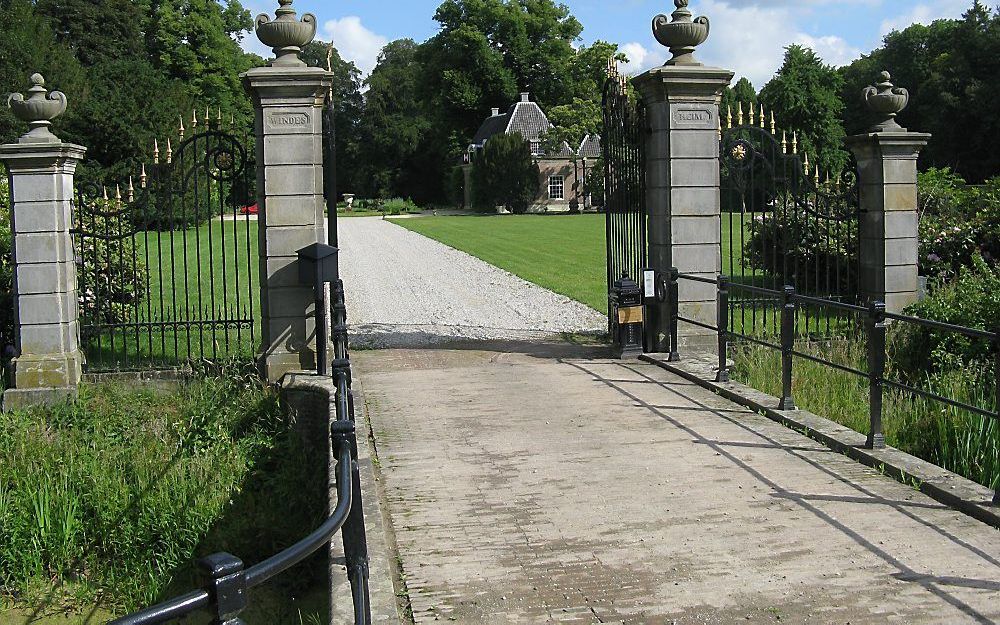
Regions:
<instances>
[{"instance_id":1,"label":"tall stone pillar inscribed WINDES with urn on top","mask_svg":"<svg viewBox=\"0 0 1000 625\"><path fill-rule=\"evenodd\" d=\"M295 18L280 0L277 19L257 17L257 37L277 58L242 76L253 98L257 135L261 372L277 382L315 369L315 293L299 283L296 252L326 241L323 199L324 99L332 74L307 67L298 54L316 34L316 18Z\"/></svg>"}]
</instances>

